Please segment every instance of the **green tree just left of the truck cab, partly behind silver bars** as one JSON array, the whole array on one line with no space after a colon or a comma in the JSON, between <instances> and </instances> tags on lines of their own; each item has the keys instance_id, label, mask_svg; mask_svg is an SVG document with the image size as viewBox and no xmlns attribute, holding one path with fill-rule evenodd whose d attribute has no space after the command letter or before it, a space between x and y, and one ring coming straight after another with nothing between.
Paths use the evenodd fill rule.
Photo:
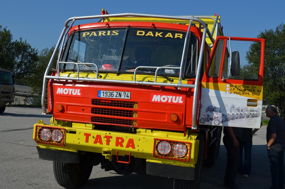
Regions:
<instances>
[{"instance_id":1,"label":"green tree just left of the truck cab, partly behind silver bars","mask_svg":"<svg viewBox=\"0 0 285 189\"><path fill-rule=\"evenodd\" d=\"M28 85L32 88L32 94L34 95L34 101L36 105L41 104L41 94L43 90L43 76L45 74L45 70L47 69L47 65L50 62L50 58L52 57L52 53L54 51L55 46L51 48L43 49L38 55L38 61L36 62L35 67L33 68L33 72L29 76ZM58 57L58 54L56 55ZM57 59L52 63L52 68L56 68ZM51 72L49 72L51 74ZM47 93L46 93L47 94Z\"/></svg>"}]
</instances>

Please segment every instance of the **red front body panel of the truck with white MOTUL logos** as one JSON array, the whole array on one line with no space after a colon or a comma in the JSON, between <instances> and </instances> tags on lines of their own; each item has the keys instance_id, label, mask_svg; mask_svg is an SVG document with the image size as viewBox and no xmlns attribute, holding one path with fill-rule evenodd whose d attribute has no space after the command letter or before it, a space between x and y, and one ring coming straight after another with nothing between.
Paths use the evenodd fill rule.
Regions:
<instances>
[{"instance_id":1,"label":"red front body panel of the truck with white MOTUL logos","mask_svg":"<svg viewBox=\"0 0 285 189\"><path fill-rule=\"evenodd\" d=\"M187 94L186 99L185 89L177 91L174 88L164 88L162 91L160 87L155 86L136 85L134 87L120 84L105 85L104 83L96 83L96 85L92 83L90 85L87 82L77 82L76 86L73 86L71 82L66 81L54 82L52 85L53 93L50 93L52 95L50 98L54 101L53 114L55 119L98 125L111 124L130 127L131 125L126 122L131 123L133 120L137 122L137 124L133 124L133 127L184 131L185 106L192 97L190 93L190 95ZM131 99L100 98L98 97L98 90L131 92ZM153 95L160 95L161 101L152 101ZM92 103L92 99L109 103L113 101L135 102L137 108L104 106ZM64 106L64 111L59 112L56 109L59 104ZM188 103L187 106L191 106L191 104ZM96 108L97 114L92 113L92 108ZM133 111L137 112L137 117L134 117ZM170 115L173 113L179 116L179 120L176 122L170 120ZM92 121L92 117L96 117L96 120L107 120ZM188 120L187 123L190 124L191 122Z\"/></svg>"}]
</instances>

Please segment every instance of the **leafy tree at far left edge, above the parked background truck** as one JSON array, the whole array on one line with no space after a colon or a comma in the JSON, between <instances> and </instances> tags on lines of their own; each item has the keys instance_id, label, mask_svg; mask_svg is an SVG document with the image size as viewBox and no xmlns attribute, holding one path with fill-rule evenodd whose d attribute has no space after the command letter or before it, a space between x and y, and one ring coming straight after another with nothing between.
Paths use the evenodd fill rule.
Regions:
<instances>
[{"instance_id":1,"label":"leafy tree at far left edge, above the parked background truck","mask_svg":"<svg viewBox=\"0 0 285 189\"><path fill-rule=\"evenodd\" d=\"M27 41L13 40L10 30L0 25L0 67L8 69L16 79L25 79L38 61L38 50Z\"/></svg>"}]
</instances>

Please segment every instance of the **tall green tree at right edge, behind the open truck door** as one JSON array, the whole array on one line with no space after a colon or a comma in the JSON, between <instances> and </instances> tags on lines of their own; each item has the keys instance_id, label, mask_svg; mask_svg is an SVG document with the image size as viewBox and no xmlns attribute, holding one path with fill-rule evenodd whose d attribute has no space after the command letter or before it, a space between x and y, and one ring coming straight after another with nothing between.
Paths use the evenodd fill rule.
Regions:
<instances>
[{"instance_id":1,"label":"tall green tree at right edge, behind the open truck door","mask_svg":"<svg viewBox=\"0 0 285 189\"><path fill-rule=\"evenodd\" d=\"M261 32L258 38L265 39L263 99L279 108L280 117L285 121L285 24ZM260 47L253 43L247 51L246 59L253 62L247 69L256 72Z\"/></svg>"}]
</instances>

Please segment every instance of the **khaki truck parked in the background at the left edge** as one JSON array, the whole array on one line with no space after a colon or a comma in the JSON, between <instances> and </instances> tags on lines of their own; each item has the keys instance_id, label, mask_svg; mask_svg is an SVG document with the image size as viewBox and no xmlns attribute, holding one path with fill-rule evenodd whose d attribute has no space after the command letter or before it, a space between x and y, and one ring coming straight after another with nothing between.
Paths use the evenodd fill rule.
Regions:
<instances>
[{"instance_id":1,"label":"khaki truck parked in the background at the left edge","mask_svg":"<svg viewBox=\"0 0 285 189\"><path fill-rule=\"evenodd\" d=\"M0 114L5 111L6 104L14 101L14 80L11 72L0 68Z\"/></svg>"}]
</instances>

